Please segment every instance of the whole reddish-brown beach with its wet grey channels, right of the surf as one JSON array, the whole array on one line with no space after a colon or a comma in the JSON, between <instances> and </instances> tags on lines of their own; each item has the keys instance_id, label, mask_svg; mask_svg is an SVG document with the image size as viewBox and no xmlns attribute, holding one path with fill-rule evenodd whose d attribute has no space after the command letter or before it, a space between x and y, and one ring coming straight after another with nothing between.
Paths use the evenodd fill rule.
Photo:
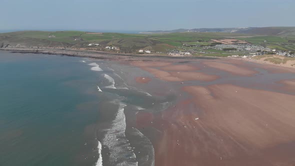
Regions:
<instances>
[{"instance_id":1,"label":"whole reddish-brown beach with its wet grey channels, right of the surf","mask_svg":"<svg viewBox=\"0 0 295 166\"><path fill-rule=\"evenodd\" d=\"M295 164L295 90L286 89L294 88L291 70L230 59L131 65L162 81L154 91L169 87L177 95L161 112L136 114L155 165Z\"/></svg>"}]
</instances>

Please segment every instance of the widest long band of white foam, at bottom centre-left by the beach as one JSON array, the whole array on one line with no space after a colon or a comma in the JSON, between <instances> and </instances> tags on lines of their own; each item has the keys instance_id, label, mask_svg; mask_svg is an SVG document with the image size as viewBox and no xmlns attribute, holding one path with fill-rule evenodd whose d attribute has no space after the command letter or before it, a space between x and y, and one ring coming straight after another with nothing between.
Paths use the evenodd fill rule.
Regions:
<instances>
[{"instance_id":1,"label":"widest long band of white foam, at bottom centre-left by the beach","mask_svg":"<svg viewBox=\"0 0 295 166\"><path fill-rule=\"evenodd\" d=\"M129 149L130 143L125 136L126 122L124 107L125 103L117 102L118 111L112 125L106 130L105 137L102 143L108 146L111 153L109 154L109 161L111 165L137 165L136 155ZM128 157L126 157L128 156Z\"/></svg>"}]
</instances>

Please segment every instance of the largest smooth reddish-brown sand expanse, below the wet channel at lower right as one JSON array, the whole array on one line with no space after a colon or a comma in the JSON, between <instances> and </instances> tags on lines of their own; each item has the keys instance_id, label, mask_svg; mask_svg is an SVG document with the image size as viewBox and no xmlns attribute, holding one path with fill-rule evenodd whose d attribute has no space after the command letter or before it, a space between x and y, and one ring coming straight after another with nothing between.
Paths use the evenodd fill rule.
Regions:
<instances>
[{"instance_id":1,"label":"largest smooth reddish-brown sand expanse, below the wet channel at lower right","mask_svg":"<svg viewBox=\"0 0 295 166\"><path fill-rule=\"evenodd\" d=\"M295 96L230 84L183 89L202 111L189 111L186 102L154 119L154 127L162 131L156 165L284 163L284 155L275 150L295 140ZM157 125L163 122L164 127Z\"/></svg>"}]
</instances>

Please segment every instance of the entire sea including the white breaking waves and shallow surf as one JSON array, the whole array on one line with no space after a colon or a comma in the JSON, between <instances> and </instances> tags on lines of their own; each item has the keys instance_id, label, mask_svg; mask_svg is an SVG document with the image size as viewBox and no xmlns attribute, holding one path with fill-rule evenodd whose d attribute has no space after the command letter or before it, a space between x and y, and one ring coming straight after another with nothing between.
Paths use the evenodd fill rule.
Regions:
<instances>
[{"instance_id":1,"label":"entire sea including the white breaking waves and shallow surf","mask_svg":"<svg viewBox=\"0 0 295 166\"><path fill-rule=\"evenodd\" d=\"M80 57L0 51L0 165L137 165L140 157L149 158L141 165L153 165L150 141L126 127L124 112L171 99L128 86L122 69Z\"/></svg>"}]
</instances>

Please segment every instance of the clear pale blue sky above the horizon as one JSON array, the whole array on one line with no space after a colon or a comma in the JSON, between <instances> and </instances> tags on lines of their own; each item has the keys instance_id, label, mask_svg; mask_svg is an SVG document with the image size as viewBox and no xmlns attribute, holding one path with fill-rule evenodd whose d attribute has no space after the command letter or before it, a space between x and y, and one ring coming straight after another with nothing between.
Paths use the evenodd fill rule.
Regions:
<instances>
[{"instance_id":1,"label":"clear pale blue sky above the horizon","mask_svg":"<svg viewBox=\"0 0 295 166\"><path fill-rule=\"evenodd\" d=\"M0 30L295 26L295 0L0 0Z\"/></svg>"}]
</instances>

